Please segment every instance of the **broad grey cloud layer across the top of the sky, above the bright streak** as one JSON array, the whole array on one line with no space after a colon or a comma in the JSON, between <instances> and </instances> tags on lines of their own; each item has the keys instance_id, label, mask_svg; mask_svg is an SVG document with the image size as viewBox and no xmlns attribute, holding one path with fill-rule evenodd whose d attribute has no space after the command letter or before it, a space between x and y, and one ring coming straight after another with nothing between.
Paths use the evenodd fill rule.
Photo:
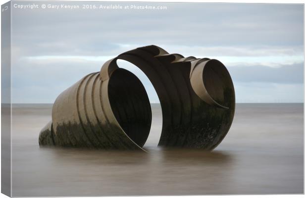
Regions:
<instances>
[{"instance_id":1,"label":"broad grey cloud layer across the top of the sky, above the bright streak","mask_svg":"<svg viewBox=\"0 0 307 198\"><path fill-rule=\"evenodd\" d=\"M136 4L167 5L168 10L29 11L14 8L14 46L32 55L104 55L118 49L116 44L299 46L303 49L303 5ZM58 47L52 48L52 43ZM65 47L59 47L61 45Z\"/></svg>"}]
</instances>

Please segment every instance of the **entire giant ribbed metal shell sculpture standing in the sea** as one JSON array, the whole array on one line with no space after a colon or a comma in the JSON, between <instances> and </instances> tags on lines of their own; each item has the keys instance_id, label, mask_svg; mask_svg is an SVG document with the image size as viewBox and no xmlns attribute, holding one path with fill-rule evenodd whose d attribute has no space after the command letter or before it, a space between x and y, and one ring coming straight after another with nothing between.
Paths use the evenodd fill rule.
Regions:
<instances>
[{"instance_id":1,"label":"entire giant ribbed metal shell sculpture standing in the sea","mask_svg":"<svg viewBox=\"0 0 307 198\"><path fill-rule=\"evenodd\" d=\"M235 92L226 67L216 59L169 54L157 46L124 52L62 92L40 146L143 149L152 112L144 86L117 59L139 67L160 100L159 146L215 148L234 117Z\"/></svg>"}]
</instances>

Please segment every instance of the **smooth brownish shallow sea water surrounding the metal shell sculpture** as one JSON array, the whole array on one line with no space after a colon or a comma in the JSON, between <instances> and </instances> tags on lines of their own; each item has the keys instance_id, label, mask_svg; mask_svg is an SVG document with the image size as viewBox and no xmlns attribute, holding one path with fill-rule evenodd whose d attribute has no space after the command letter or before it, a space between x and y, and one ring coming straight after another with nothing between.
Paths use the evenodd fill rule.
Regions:
<instances>
[{"instance_id":1,"label":"smooth brownish shallow sea water surrounding the metal shell sculpture","mask_svg":"<svg viewBox=\"0 0 307 198\"><path fill-rule=\"evenodd\" d=\"M303 104L237 104L211 152L156 147L160 111L141 151L39 148L51 104L12 108L12 196L304 193Z\"/></svg>"}]
</instances>

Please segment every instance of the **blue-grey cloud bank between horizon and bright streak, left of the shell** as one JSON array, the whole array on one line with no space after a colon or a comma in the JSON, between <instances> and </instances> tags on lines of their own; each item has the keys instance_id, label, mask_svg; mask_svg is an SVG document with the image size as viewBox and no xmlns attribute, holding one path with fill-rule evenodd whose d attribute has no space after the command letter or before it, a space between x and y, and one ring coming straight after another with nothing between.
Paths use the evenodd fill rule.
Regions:
<instances>
[{"instance_id":1,"label":"blue-grey cloud bank between horizon and bright streak, left of the shell","mask_svg":"<svg viewBox=\"0 0 307 198\"><path fill-rule=\"evenodd\" d=\"M15 61L12 67L12 101L53 103L61 92L86 74L98 72L101 64L71 59Z\"/></svg>"}]
</instances>

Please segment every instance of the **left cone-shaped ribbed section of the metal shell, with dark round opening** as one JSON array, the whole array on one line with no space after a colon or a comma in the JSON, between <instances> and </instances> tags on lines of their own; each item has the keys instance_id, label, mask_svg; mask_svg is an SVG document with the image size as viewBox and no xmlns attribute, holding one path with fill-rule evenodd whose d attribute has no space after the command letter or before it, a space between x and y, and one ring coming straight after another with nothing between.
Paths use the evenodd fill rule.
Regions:
<instances>
[{"instance_id":1,"label":"left cone-shaped ribbed section of the metal shell, with dark round opening","mask_svg":"<svg viewBox=\"0 0 307 198\"><path fill-rule=\"evenodd\" d=\"M40 145L142 149L152 119L145 88L124 69L117 69L105 81L99 79L99 74L85 76L57 97L52 107L52 127L42 130ZM127 121L138 126L129 128ZM51 133L51 141L43 138L44 132Z\"/></svg>"}]
</instances>

